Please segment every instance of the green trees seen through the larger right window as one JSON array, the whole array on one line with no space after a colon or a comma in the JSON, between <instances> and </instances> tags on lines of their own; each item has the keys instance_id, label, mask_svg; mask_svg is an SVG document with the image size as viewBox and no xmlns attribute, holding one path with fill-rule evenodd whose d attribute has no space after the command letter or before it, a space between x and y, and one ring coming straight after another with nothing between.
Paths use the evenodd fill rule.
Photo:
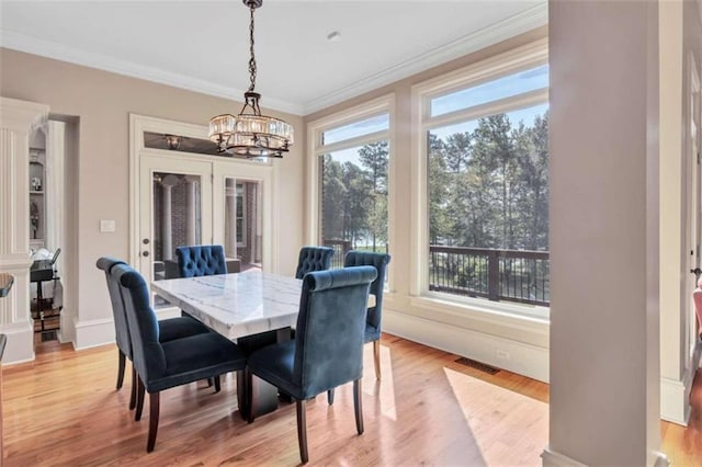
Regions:
<instances>
[{"instance_id":1,"label":"green trees seen through the larger right window","mask_svg":"<svg viewBox=\"0 0 702 467\"><path fill-rule=\"evenodd\" d=\"M548 112L532 127L506 114L473 132L428 136L433 244L548 249Z\"/></svg>"}]
</instances>

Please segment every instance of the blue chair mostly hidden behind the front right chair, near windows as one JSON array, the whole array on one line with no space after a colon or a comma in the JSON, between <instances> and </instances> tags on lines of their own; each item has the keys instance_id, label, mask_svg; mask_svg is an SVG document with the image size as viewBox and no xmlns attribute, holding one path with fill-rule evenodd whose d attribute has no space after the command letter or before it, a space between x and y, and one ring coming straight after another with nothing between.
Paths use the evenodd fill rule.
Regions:
<instances>
[{"instance_id":1,"label":"blue chair mostly hidden behind the front right chair, near windows","mask_svg":"<svg viewBox=\"0 0 702 467\"><path fill-rule=\"evenodd\" d=\"M383 317L383 289L385 288L385 270L390 262L390 255L367 251L351 250L343 259L344 266L374 266L377 277L371 284L371 295L375 297L375 305L369 307L365 320L364 342L373 342L373 362L375 377L381 379L381 321Z\"/></svg>"}]
</instances>

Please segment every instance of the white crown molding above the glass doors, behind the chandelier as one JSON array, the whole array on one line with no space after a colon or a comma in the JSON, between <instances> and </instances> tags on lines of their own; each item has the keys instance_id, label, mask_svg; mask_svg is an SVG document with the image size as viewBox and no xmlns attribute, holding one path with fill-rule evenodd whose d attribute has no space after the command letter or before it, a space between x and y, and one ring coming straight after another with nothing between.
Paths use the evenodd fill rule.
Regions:
<instances>
[{"instance_id":1,"label":"white crown molding above the glass doors, behind the chandelier","mask_svg":"<svg viewBox=\"0 0 702 467\"><path fill-rule=\"evenodd\" d=\"M200 92L217 98L229 99L241 102L244 90L233 89L210 81L189 77L185 75L165 71L155 67L137 65L132 61L122 60L103 54L81 50L75 47L43 41L25 34L0 30L0 47L11 48L27 54L68 61L89 68L97 68L117 75L152 81L160 84L172 86L188 91ZM265 109L279 112L287 112L294 115L302 115L304 106L278 99L265 98Z\"/></svg>"}]
</instances>

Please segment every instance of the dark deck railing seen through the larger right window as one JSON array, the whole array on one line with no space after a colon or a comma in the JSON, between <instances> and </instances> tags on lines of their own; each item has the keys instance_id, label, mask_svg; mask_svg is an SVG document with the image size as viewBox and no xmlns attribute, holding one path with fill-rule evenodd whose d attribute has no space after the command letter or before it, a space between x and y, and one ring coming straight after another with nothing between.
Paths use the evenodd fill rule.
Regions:
<instances>
[{"instance_id":1,"label":"dark deck railing seen through the larger right window","mask_svg":"<svg viewBox=\"0 0 702 467\"><path fill-rule=\"evenodd\" d=\"M429 289L548 306L547 251L429 247Z\"/></svg>"}]
</instances>

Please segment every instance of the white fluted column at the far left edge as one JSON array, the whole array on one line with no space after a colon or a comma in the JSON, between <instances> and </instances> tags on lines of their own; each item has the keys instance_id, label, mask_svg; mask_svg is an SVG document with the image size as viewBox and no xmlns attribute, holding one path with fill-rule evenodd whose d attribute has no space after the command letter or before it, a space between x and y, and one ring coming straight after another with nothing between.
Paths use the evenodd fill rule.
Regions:
<instances>
[{"instance_id":1,"label":"white fluted column at the far left edge","mask_svg":"<svg viewBox=\"0 0 702 467\"><path fill-rule=\"evenodd\" d=\"M45 123L48 106L0 98L0 271L14 276L0 300L0 332L8 335L3 363L34 358L30 316L30 145L33 125Z\"/></svg>"}]
</instances>

